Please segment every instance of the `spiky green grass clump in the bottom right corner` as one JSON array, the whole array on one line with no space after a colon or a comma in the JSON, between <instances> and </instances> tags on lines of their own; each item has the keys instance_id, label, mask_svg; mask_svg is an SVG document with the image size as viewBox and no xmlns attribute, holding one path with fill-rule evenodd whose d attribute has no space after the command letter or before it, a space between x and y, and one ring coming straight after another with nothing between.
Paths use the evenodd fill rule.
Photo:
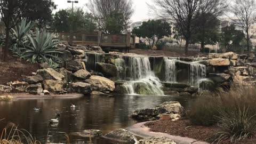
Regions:
<instances>
[{"instance_id":1,"label":"spiky green grass clump in the bottom right corner","mask_svg":"<svg viewBox=\"0 0 256 144\"><path fill-rule=\"evenodd\" d=\"M246 107L246 106L245 106ZM214 134L214 142L236 143L244 138L251 138L256 131L256 115L249 113L249 107L235 110L220 110L217 117L218 131Z\"/></svg>"}]
</instances>

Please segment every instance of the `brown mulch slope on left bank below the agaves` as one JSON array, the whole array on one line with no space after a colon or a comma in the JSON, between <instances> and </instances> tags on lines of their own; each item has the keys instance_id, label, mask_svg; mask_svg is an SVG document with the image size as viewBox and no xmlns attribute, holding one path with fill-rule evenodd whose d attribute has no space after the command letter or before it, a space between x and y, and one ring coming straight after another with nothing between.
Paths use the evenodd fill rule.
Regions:
<instances>
[{"instance_id":1,"label":"brown mulch slope on left bank below the agaves","mask_svg":"<svg viewBox=\"0 0 256 144\"><path fill-rule=\"evenodd\" d=\"M8 62L0 62L0 84L14 81L24 81L27 76L31 76L32 72L39 69L37 63L31 64L27 61L18 61L16 59L9 59Z\"/></svg>"}]
</instances>

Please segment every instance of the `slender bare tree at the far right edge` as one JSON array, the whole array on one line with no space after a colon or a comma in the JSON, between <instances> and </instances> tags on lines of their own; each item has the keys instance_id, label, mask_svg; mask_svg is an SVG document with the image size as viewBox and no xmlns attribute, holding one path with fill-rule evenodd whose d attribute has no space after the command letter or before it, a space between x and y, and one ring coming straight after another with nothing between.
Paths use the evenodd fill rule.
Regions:
<instances>
[{"instance_id":1,"label":"slender bare tree at the far right edge","mask_svg":"<svg viewBox=\"0 0 256 144\"><path fill-rule=\"evenodd\" d=\"M233 22L236 26L242 28L246 34L247 51L250 51L250 39L256 32L252 31L252 35L249 34L251 26L256 22L255 0L235 0L230 10L237 18L236 20L233 20Z\"/></svg>"}]
</instances>

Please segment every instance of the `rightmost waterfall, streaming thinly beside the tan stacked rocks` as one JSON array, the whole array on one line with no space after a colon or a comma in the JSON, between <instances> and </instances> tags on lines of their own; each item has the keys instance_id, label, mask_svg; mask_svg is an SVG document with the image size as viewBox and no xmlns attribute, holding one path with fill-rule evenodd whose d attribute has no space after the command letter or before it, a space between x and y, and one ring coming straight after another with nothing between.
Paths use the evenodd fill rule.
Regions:
<instances>
[{"instance_id":1,"label":"rightmost waterfall, streaming thinly beside the tan stacked rocks","mask_svg":"<svg viewBox=\"0 0 256 144\"><path fill-rule=\"evenodd\" d=\"M189 68L189 83L198 87L199 80L206 77L206 66L200 63L191 62Z\"/></svg>"}]
</instances>

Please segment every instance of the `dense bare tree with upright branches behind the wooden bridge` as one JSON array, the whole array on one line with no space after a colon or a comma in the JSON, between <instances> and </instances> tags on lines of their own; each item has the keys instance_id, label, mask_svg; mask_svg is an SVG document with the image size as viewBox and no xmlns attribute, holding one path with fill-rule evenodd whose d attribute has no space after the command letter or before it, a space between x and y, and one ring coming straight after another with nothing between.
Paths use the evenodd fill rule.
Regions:
<instances>
[{"instance_id":1,"label":"dense bare tree with upright branches behind the wooden bridge","mask_svg":"<svg viewBox=\"0 0 256 144\"><path fill-rule=\"evenodd\" d=\"M134 13L132 0L90 0L87 4L99 29L105 33L121 33L127 29Z\"/></svg>"}]
</instances>

